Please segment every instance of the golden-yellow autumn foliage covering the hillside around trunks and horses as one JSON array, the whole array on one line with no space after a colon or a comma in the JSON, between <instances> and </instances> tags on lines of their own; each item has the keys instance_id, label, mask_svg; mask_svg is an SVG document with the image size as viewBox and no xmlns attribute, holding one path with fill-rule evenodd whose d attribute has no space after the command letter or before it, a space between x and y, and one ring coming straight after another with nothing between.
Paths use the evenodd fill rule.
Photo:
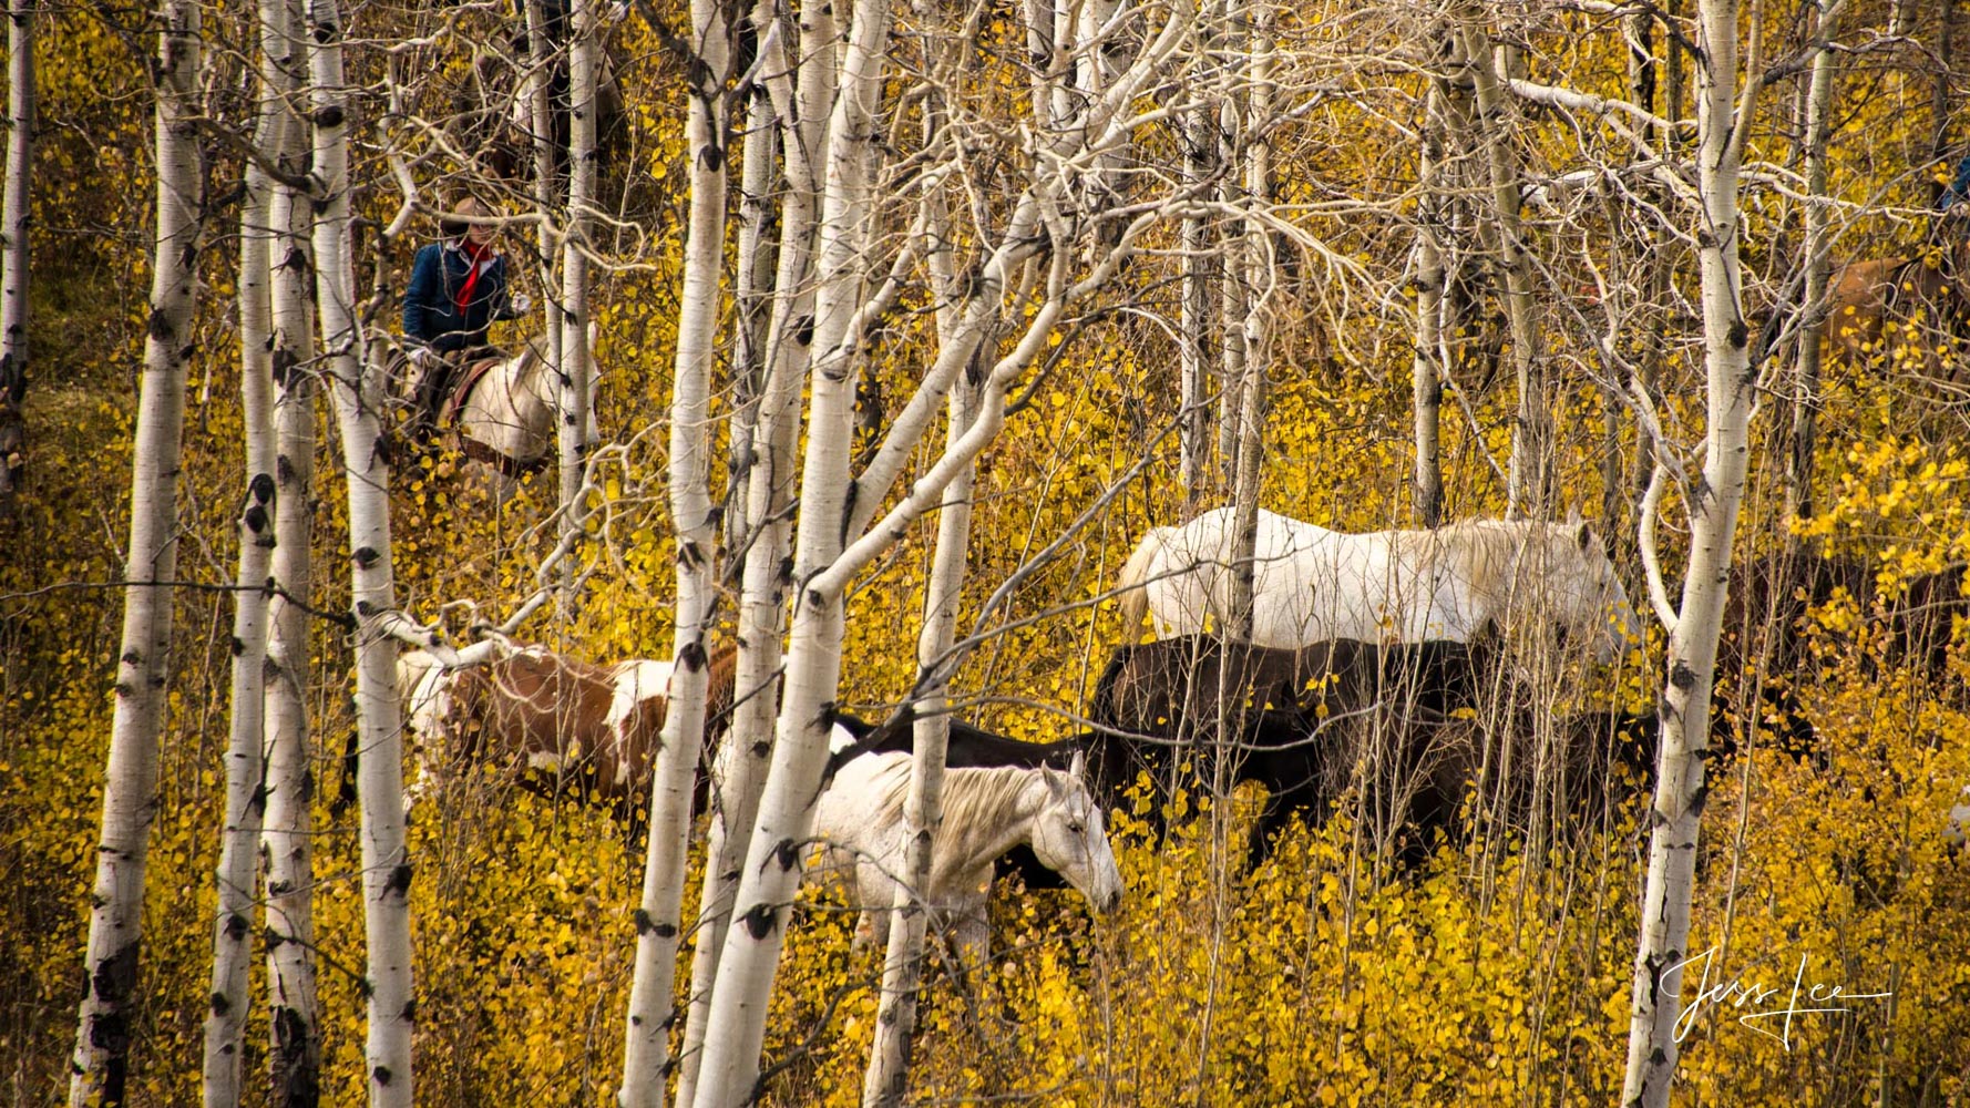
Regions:
<instances>
[{"instance_id":1,"label":"golden-yellow autumn foliage covering the hillside around trunks and horses","mask_svg":"<svg viewBox=\"0 0 1970 1108\"><path fill-rule=\"evenodd\" d=\"M1344 10L1346 8L1346 10ZM672 12L682 20L682 14ZM997 14L979 41L1003 47L1017 28ZM1412 520L1412 221L1420 211L1416 136L1424 118L1426 12L1401 6L1282 12L1282 35L1342 83L1277 140L1280 219L1328 250L1302 254L1273 298L1263 503L1346 530ZM1791 8L1755 8L1769 43L1803 41ZM362 20L370 20L362 24ZM420 22L422 20L422 22ZM1533 77L1609 95L1629 89L1629 43L1592 12L1539 8L1499 16L1499 41L1523 41ZM1954 6L1862 6L1846 16L1830 144L1832 195L1842 201L1838 256L1917 250L1935 179L1946 172L1937 134L1954 120L1946 39L1964 28ZM240 63L236 12L207 20L213 110L234 110ZM427 14L370 6L359 32L429 34ZM492 35L494 14L418 55L429 79L418 97L443 104L463 85L469 34ZM1405 41L1407 39L1407 41ZM229 53L227 45L234 43ZM682 254L682 67L640 20L611 39L628 89L630 138L603 189L615 213L652 239L613 246L628 268L597 276L601 422L628 442L599 473L609 530L579 609L544 617L528 635L587 658L668 657L674 528L664 505L668 375L676 343ZM35 191L35 375L30 392L32 469L0 556L0 1078L20 1102L59 1096L75 1033L77 966L108 741L108 672L116 653L122 574L122 489L130 473L134 353L148 278L148 81L138 16L51 12L43 32L41 164ZM1665 57L1659 110L1678 114ZM1322 53L1324 51L1324 53ZM1009 57L1017 53L1009 49ZM1937 65L1944 63L1937 112ZM374 79L374 55L351 65ZM370 67L370 69L364 69ZM1022 81L1007 69L1007 81ZM1749 310L1771 308L1799 264L1795 79L1767 97L1747 160ZM1688 93L1680 93L1688 112ZM431 106L437 114L439 108ZM1529 177L1625 164L1627 154L1578 116L1515 108L1513 150ZM1674 140L1665 140L1676 150ZM1145 144L1145 158L1176 144ZM359 148L359 162L374 152ZM1474 158L1470 152L1464 158ZM1462 162L1474 166L1474 162ZM380 181L380 166L368 164ZM1472 170L1476 172L1476 170ZM238 175L234 154L211 150L209 193L221 203ZM1755 173L1753 173L1755 175ZM1446 189L1481 197L1478 175ZM1694 262L1686 246L1651 237L1608 177L1554 207L1531 205L1544 343L1552 353L1558 507L1582 507L1633 572L1639 436L1606 388L1596 353L1611 333L1623 353L1653 359L1663 422L1688 442L1702 426L1700 343L1694 341ZM359 195L378 223L394 211L382 187ZM223 219L221 219L223 223ZM1168 248L1166 239L1150 239ZM1505 329L1476 223L1458 225L1472 292L1468 345L1450 365L1442 469L1450 517L1497 515L1505 503L1517 406ZM203 258L207 296L195 323L193 408L181 481L181 578L229 580L234 556L240 414L238 351L229 317L232 242ZM361 256L361 252L359 252ZM382 258L384 282L408 268ZM368 266L368 260L362 262ZM1649 266L1669 266L1651 284ZM971 562L959 635L995 631L953 682L969 720L1024 737L1070 729L1123 635L1095 601L1133 540L1176 520L1176 319L1170 258L1145 254L1109 308L1076 319L1022 388L1005 438L979 461ZM390 274L396 274L394 278ZM370 270L364 268L364 282ZM1566 290L1609 288L1588 302ZM910 304L906 308L922 308ZM1606 317L1615 312L1615 317ZM896 323L904 327L906 323ZM723 341L725 331L721 331ZM520 339L516 329L506 341ZM1495 339L1495 343L1493 343ZM918 351L920 353L920 351ZM1779 365L1793 355L1773 351ZM1818 544L1860 554L1893 588L1970 556L1960 418L1946 392L1897 367L1921 351L1881 349L1868 365L1826 369L1816 513L1785 517L1787 371L1767 371L1751 424L1753 467L1738 560ZM857 451L922 375L908 343L865 367ZM1625 382L1621 382L1625 384ZM713 396L729 416L729 394ZM1611 426L1609 426L1609 418ZM327 424L323 424L327 428ZM333 438L325 430L325 442ZM928 453L926 453L928 457ZM1147 465L1145 465L1145 459ZM402 465L392 489L398 597L422 619L461 597L489 609L534 580L552 546L540 528L552 503L532 485L502 511L463 491L457 459ZM713 465L713 481L723 481ZM1133 479L1131 479L1133 475ZM1113 509L1040 566L1028 560L1089 503L1131 483ZM1215 495L1227 477L1208 473ZM335 467L323 467L315 534L333 552L347 534ZM1604 507L1606 505L1606 507ZM1674 517L1665 548L1680 564ZM910 643L920 621L934 526L910 536L849 597L841 700L865 714L894 704L916 676ZM317 558L317 595L347 595L347 560ZM1015 572L1009 603L987 627L979 605ZM1641 593L1635 593L1637 597ZM325 603L333 607L333 603ZM717 635L731 633L731 601ZM1722 944L1726 972L1775 976L1801 954L1818 980L1854 992L1893 992L1854 1013L1805 1021L1791 1049L1734 1023L1698 1021L1684 1041L1686 1102L1948 1104L1970 1094L1970 875L1942 838L1942 812L1970 783L1970 716L1962 660L1931 682L1895 657L1870 611L1836 601L1801 633L1812 664L1783 676L1816 726L1820 755L1795 763L1747 739L1743 757L1712 767L1698 867L1692 946ZM211 871L223 796L219 749L227 727L230 597L187 588L177 597L175 666L162 745L146 899L144 1004L134 1025L132 1098L183 1104L197 1096L213 913ZM1749 627L1728 627L1745 635ZM331 812L349 710L351 645L333 621L315 625L315 917L323 990L323 1096L357 1102L362 1071L362 905L353 812ZM1594 682L1554 682L1543 710L1645 710L1663 674L1661 643ZM1741 688L1745 674L1720 674ZM1738 702L1749 704L1749 698ZM1751 720L1738 720L1740 731ZM1145 796L1141 804L1149 804ZM1257 798L1182 796L1178 814L1249 818ZM1072 895L995 899L991 972L936 976L922 1009L916 1094L1024 1096L1034 1102L1202 1100L1212 1104L1519 1104L1619 1092L1627 988L1645 866L1639 814L1529 856L1509 832L1444 842L1416 873L1395 873L1361 850L1346 812L1290 834L1245 871L1221 850L1219 824L1178 820L1168 844L1145 842L1143 806L1115 820L1131 883L1121 913L1093 925ZM418 1082L427 1104L605 1102L621 1074L630 911L640 844L623 824L573 802L552 802L483 781L457 791L412 826L418 982ZM1233 836L1235 840L1235 836ZM699 887L686 883L686 919ZM806 899L794 913L768 1019L770 1098L853 1102L875 1021L877 956L847 948L851 915ZM262 996L254 968L254 996ZM248 1074L264 1065L264 1033L248 1033ZM250 1078L252 1086L252 1078Z\"/></svg>"}]
</instances>

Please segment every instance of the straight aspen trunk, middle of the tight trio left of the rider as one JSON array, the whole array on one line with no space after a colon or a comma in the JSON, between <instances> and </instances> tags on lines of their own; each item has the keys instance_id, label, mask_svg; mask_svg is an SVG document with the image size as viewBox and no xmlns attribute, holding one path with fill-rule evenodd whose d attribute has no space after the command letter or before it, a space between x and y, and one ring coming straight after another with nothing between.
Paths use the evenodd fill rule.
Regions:
<instances>
[{"instance_id":1,"label":"straight aspen trunk, middle of the tight trio left of the rider","mask_svg":"<svg viewBox=\"0 0 1970 1108\"><path fill-rule=\"evenodd\" d=\"M286 28L280 79L280 166L307 172L309 136L286 97L305 83L305 47L292 32L305 24L299 0L282 0ZM315 522L315 264L309 250L311 203L294 185L274 187L272 321L274 426L280 457L274 511L274 580L290 599L274 599L266 678L266 990L270 1094L276 1108L313 1108L321 1100L321 1015L315 1004L313 795L307 726L307 657L313 597Z\"/></svg>"}]
</instances>

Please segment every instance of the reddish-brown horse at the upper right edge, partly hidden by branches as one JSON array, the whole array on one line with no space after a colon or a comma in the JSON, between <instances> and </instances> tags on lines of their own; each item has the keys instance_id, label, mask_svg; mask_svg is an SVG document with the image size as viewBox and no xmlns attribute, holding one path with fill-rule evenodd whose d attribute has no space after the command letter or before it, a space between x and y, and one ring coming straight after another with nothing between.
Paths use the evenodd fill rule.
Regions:
<instances>
[{"instance_id":1,"label":"reddish-brown horse at the upper right edge, partly hidden by branches","mask_svg":"<svg viewBox=\"0 0 1970 1108\"><path fill-rule=\"evenodd\" d=\"M1950 347L1970 337L1970 242L1946 254L1848 262L1834 272L1820 335L1856 365L1887 353L1883 339L1921 351L1925 377L1964 384L1962 365L1946 365Z\"/></svg>"}]
</instances>

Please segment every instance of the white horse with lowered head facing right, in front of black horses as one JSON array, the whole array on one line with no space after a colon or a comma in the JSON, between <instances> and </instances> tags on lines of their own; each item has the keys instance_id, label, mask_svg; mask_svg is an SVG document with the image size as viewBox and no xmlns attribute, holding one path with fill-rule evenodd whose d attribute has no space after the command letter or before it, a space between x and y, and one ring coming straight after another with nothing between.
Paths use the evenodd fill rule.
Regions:
<instances>
[{"instance_id":1,"label":"white horse with lowered head facing right, in front of black horses","mask_svg":"<svg viewBox=\"0 0 1970 1108\"><path fill-rule=\"evenodd\" d=\"M835 727L835 745L853 735ZM851 759L821 793L814 834L827 844L833 867L853 873L861 917L855 944L888 942L888 915L902 883L910 842L904 798L910 755L871 753ZM1066 773L1046 767L946 769L944 824L930 854L930 885L918 889L932 921L950 927L967 962L987 950L985 897L993 862L1028 844L1042 866L1060 873L1095 911L1121 903L1123 881L1101 826L1101 806L1082 783L1082 757Z\"/></svg>"}]
</instances>

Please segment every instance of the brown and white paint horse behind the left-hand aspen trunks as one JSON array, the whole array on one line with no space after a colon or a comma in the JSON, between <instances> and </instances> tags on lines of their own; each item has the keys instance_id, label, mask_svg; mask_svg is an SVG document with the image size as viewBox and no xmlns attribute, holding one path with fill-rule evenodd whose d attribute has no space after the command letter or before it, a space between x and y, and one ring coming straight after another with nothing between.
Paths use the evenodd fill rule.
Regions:
<instances>
[{"instance_id":1,"label":"brown and white paint horse behind the left-hand aspen trunks","mask_svg":"<svg viewBox=\"0 0 1970 1108\"><path fill-rule=\"evenodd\" d=\"M737 651L725 649L709 664L707 745L731 718ZM624 802L636 814L662 745L670 670L668 660L599 666L544 647L459 670L424 651L406 653L398 688L418 739L418 781L406 806L485 765L546 793Z\"/></svg>"}]
</instances>

